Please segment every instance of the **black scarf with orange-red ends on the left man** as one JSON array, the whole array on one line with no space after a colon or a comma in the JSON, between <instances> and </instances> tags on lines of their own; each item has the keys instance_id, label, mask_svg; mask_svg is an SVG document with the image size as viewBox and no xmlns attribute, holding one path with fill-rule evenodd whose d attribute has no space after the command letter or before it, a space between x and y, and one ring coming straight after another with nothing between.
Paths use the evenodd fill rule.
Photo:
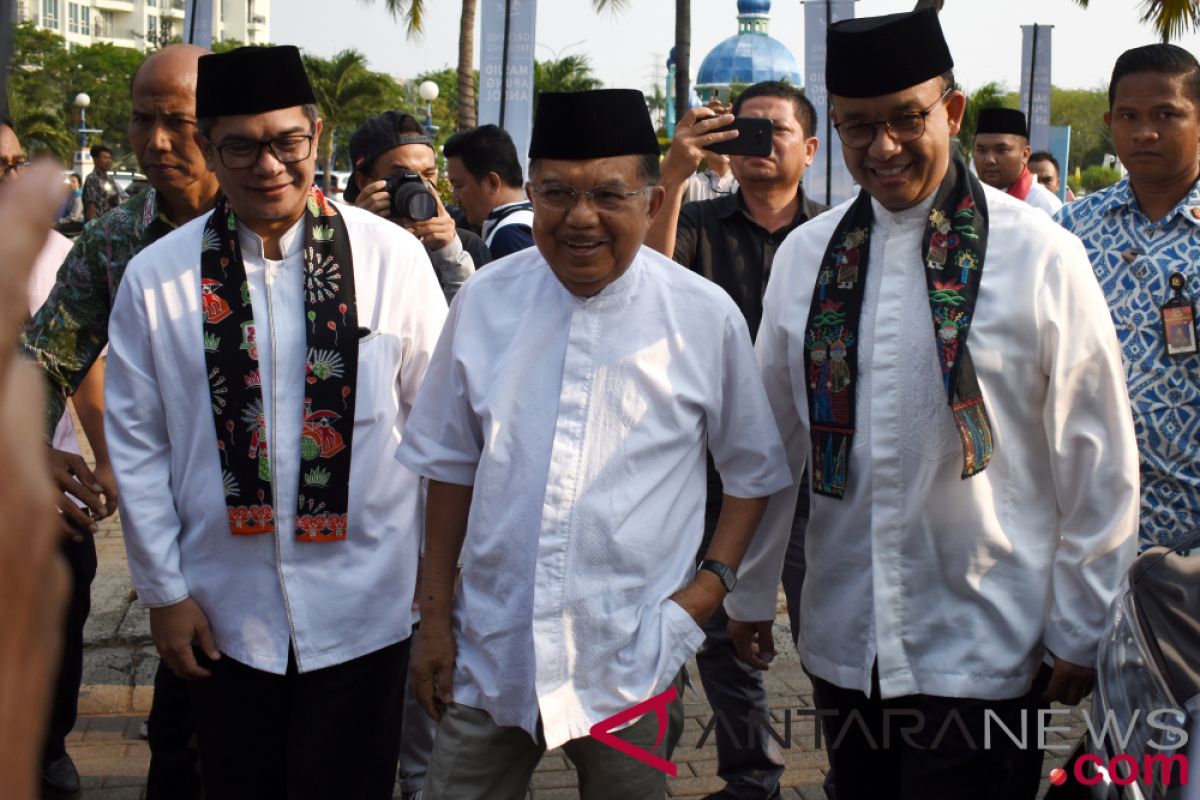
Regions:
<instances>
[{"instance_id":1,"label":"black scarf with orange-red ends on the left man","mask_svg":"<svg viewBox=\"0 0 1200 800\"><path fill-rule=\"evenodd\" d=\"M346 222L316 188L304 213L305 369L300 503L295 536L346 539L354 437L359 337L354 267ZM296 279L300 279L298 276ZM221 453L229 529L235 536L275 530L271 449L258 372L258 341L238 217L224 198L200 245L204 360Z\"/></svg>"}]
</instances>

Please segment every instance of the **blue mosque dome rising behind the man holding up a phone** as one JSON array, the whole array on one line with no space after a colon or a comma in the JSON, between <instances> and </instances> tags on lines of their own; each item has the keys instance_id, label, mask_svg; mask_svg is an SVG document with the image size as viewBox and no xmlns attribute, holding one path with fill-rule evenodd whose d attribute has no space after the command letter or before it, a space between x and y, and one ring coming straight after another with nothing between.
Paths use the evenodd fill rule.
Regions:
<instances>
[{"instance_id":1,"label":"blue mosque dome rising behind the man holding up a phone","mask_svg":"<svg viewBox=\"0 0 1200 800\"><path fill-rule=\"evenodd\" d=\"M731 83L787 80L802 86L800 67L792 52L767 35L770 0L738 0L738 34L704 56L696 76L696 89L706 97L719 91L728 97Z\"/></svg>"}]
</instances>

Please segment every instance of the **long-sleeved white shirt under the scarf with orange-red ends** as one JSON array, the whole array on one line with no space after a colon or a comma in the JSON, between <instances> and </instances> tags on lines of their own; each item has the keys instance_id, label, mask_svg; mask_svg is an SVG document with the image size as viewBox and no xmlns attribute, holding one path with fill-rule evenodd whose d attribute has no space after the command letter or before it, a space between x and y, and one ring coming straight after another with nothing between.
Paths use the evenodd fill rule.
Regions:
<instances>
[{"instance_id":1,"label":"long-sleeved white shirt under the scarf with orange-red ends","mask_svg":"<svg viewBox=\"0 0 1200 800\"><path fill-rule=\"evenodd\" d=\"M425 248L346 204L359 326L349 531L293 535L304 417L302 221L283 260L240 230L258 326L276 534L229 533L204 362L200 234L208 215L142 251L109 321L106 432L133 585L143 604L191 596L222 652L283 674L342 663L409 636L421 540L420 481L394 453L446 314Z\"/></svg>"}]
</instances>

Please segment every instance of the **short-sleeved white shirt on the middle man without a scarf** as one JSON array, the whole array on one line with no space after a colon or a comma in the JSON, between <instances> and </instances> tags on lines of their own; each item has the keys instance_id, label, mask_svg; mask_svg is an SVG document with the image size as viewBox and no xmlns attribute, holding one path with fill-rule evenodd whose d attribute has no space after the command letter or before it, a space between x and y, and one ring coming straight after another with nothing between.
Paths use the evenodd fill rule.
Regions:
<instances>
[{"instance_id":1,"label":"short-sleeved white shirt on the middle man without a scarf","mask_svg":"<svg viewBox=\"0 0 1200 800\"><path fill-rule=\"evenodd\" d=\"M745 320L642 247L590 299L536 247L478 272L397 457L474 486L455 596L454 699L546 746L666 690L703 631L670 596L696 573L709 447L726 493L791 483Z\"/></svg>"}]
</instances>

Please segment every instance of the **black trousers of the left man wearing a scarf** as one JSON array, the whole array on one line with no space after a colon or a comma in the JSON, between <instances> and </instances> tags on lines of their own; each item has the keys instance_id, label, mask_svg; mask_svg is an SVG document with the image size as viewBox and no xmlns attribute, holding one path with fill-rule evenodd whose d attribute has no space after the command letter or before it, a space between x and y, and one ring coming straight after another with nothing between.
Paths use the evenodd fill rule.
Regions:
<instances>
[{"instance_id":1,"label":"black trousers of the left man wearing a scarf","mask_svg":"<svg viewBox=\"0 0 1200 800\"><path fill-rule=\"evenodd\" d=\"M396 786L409 640L286 675L222 654L188 682L206 800L388 800Z\"/></svg>"}]
</instances>

